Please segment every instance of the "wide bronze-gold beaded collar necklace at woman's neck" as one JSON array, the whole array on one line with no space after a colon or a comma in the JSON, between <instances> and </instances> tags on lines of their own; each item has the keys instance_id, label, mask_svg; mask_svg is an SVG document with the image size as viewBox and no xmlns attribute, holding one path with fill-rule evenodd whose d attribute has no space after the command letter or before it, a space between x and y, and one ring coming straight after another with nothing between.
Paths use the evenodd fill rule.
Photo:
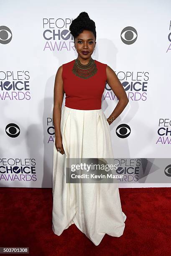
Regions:
<instances>
[{"instance_id":1,"label":"wide bronze-gold beaded collar necklace at woman's neck","mask_svg":"<svg viewBox=\"0 0 171 256\"><path fill-rule=\"evenodd\" d=\"M83 64L81 64L79 59L75 59L72 72L77 77L87 79L89 77L94 76L94 74L97 73L97 66L95 64L94 59L92 59L92 58L90 59L90 61L87 65L83 65Z\"/></svg>"}]
</instances>

